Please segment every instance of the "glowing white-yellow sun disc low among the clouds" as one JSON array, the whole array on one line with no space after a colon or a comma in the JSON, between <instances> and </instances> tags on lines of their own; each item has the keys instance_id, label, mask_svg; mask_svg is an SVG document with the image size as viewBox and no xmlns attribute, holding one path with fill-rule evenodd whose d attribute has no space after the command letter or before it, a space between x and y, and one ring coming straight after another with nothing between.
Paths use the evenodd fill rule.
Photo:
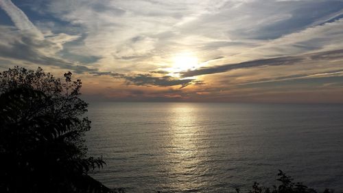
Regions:
<instances>
[{"instance_id":1,"label":"glowing white-yellow sun disc low among the clouds","mask_svg":"<svg viewBox=\"0 0 343 193\"><path fill-rule=\"evenodd\" d=\"M189 69L194 69L198 65L198 57L189 52L183 52L176 54L173 57L173 65L171 70L176 71L187 71Z\"/></svg>"}]
</instances>

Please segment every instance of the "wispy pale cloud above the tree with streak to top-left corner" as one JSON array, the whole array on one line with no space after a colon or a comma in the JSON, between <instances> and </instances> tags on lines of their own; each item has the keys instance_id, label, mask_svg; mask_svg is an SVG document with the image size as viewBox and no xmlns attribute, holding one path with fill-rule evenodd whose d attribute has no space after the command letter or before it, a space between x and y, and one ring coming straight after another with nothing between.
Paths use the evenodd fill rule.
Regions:
<instances>
[{"instance_id":1,"label":"wispy pale cloud above the tree with streak to top-left corner","mask_svg":"<svg viewBox=\"0 0 343 193\"><path fill-rule=\"evenodd\" d=\"M96 71L84 65L71 63L59 58L56 54L63 49L65 43L75 41L80 36L72 36L64 33L43 34L29 21L25 13L10 0L0 0L0 7L10 16L16 28L0 26L0 57L23 60L36 65L47 65L68 69L76 73Z\"/></svg>"}]
</instances>

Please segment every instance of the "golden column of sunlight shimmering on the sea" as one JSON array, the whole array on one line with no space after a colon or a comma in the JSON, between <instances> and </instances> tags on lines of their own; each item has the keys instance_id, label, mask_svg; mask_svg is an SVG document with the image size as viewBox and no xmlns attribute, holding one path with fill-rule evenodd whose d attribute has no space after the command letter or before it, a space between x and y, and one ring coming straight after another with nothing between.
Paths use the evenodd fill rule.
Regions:
<instances>
[{"instance_id":1,"label":"golden column of sunlight shimmering on the sea","mask_svg":"<svg viewBox=\"0 0 343 193\"><path fill-rule=\"evenodd\" d=\"M204 157L207 154L205 141L200 137L204 132L198 120L198 109L191 104L175 104L171 107L169 137L165 140L167 174L176 177L169 182L172 190L196 190L206 187L201 176L207 169Z\"/></svg>"}]
</instances>

